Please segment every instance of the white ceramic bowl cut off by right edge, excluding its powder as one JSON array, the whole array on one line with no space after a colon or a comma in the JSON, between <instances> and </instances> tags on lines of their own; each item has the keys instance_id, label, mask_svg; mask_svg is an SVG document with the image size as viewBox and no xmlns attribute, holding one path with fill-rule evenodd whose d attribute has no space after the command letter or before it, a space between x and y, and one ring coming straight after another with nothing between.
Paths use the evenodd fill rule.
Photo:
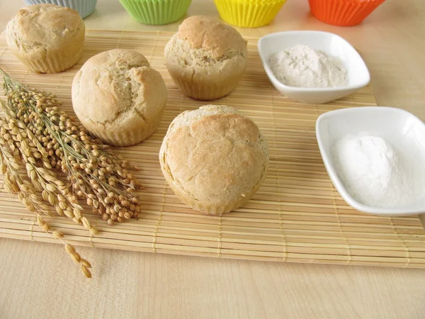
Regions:
<instances>
[{"instance_id":1,"label":"white ceramic bowl cut off by right edge, excluding its powder","mask_svg":"<svg viewBox=\"0 0 425 319\"><path fill-rule=\"evenodd\" d=\"M324 113L316 122L317 142L324 166L341 197L358 211L375 215L407 216L425 213L425 201L401 208L377 208L362 205L348 194L336 173L331 150L336 140L363 132L385 138L400 152L425 165L425 124L412 113L383 106L344 108Z\"/></svg>"}]
</instances>

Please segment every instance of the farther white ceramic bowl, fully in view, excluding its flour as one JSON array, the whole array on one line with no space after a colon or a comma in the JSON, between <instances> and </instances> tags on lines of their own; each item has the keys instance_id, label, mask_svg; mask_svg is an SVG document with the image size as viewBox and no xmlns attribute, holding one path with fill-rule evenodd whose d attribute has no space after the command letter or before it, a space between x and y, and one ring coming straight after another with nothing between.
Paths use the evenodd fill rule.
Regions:
<instances>
[{"instance_id":1,"label":"farther white ceramic bowl, fully in view, excluding its flour","mask_svg":"<svg viewBox=\"0 0 425 319\"><path fill-rule=\"evenodd\" d=\"M280 50L288 50L295 45L309 45L315 50L322 50L328 55L339 57L347 69L348 86L337 88L303 88L288 86L274 76L268 66L271 54ZM327 103L352 94L370 82L370 74L365 62L358 52L339 35L322 31L287 31L271 33L259 40L259 55L266 69L268 79L273 86L289 99L302 103Z\"/></svg>"}]
</instances>

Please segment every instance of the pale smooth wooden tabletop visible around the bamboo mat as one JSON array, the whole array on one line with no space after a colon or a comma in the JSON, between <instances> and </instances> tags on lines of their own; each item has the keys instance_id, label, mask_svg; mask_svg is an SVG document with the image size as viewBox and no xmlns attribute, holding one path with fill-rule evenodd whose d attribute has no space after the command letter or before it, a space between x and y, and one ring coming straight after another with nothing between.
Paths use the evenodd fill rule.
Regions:
<instances>
[{"instance_id":1,"label":"pale smooth wooden tabletop visible around the bamboo mat","mask_svg":"<svg viewBox=\"0 0 425 319\"><path fill-rule=\"evenodd\" d=\"M0 30L23 6L0 1ZM217 16L212 0L188 15ZM132 21L117 0L98 0L86 28L176 30ZM317 21L307 0L242 35L281 30L337 33L365 58L378 104L425 107L425 1L387 0L361 26ZM425 318L421 269L208 259L80 248L86 280L62 245L0 238L0 318Z\"/></svg>"}]
</instances>

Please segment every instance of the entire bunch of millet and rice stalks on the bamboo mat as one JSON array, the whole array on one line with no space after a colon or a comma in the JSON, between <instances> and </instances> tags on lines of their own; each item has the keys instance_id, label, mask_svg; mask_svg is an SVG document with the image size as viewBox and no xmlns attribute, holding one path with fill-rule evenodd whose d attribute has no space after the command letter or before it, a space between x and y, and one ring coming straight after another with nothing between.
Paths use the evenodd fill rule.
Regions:
<instances>
[{"instance_id":1,"label":"entire bunch of millet and rice stalks on the bamboo mat","mask_svg":"<svg viewBox=\"0 0 425 319\"><path fill-rule=\"evenodd\" d=\"M0 99L0 173L4 188L17 193L19 200L33 212L37 223L61 240L65 250L91 278L91 264L52 228L42 214L52 216L49 206L60 216L81 223L97 235L98 230L83 215L78 198L84 198L108 225L124 219L139 218L140 203L135 196L139 186L129 169L137 169L108 146L94 138L74 118L60 111L54 94L30 89L14 81L0 69L7 100ZM26 168L28 179L18 170ZM67 176L67 183L57 172Z\"/></svg>"}]
</instances>

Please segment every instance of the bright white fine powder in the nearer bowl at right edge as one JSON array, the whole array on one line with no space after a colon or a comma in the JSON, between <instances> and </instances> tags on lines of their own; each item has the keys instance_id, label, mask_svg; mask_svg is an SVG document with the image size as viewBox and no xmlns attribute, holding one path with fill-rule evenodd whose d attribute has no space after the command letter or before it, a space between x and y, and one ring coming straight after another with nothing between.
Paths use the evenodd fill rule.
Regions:
<instances>
[{"instance_id":1,"label":"bright white fine powder in the nearer bowl at right edge","mask_svg":"<svg viewBox=\"0 0 425 319\"><path fill-rule=\"evenodd\" d=\"M424 198L421 163L397 152L383 138L347 136L336 142L332 157L348 193L363 205L397 208Z\"/></svg>"}]
</instances>

